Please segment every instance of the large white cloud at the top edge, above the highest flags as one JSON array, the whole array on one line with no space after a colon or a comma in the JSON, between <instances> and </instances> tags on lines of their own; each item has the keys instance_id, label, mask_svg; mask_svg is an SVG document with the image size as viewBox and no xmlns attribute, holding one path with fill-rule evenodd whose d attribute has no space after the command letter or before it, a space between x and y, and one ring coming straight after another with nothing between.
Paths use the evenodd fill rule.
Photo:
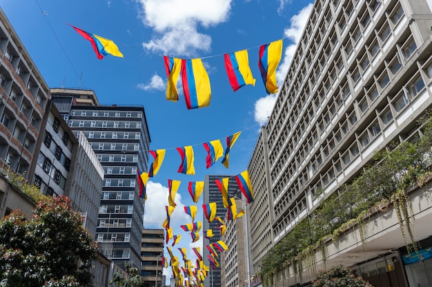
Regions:
<instances>
[{"instance_id":1,"label":"large white cloud at the top edge, above the highest flags","mask_svg":"<svg viewBox=\"0 0 432 287\"><path fill-rule=\"evenodd\" d=\"M192 55L210 50L211 38L198 32L228 19L232 0L137 0L142 21L156 34L143 47L164 54Z\"/></svg>"}]
</instances>

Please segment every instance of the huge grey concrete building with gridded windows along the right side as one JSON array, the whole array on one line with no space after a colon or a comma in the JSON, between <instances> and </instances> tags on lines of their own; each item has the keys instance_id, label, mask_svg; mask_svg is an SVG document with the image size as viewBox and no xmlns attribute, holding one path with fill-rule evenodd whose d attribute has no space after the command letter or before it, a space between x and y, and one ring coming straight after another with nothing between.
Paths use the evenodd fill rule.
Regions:
<instances>
[{"instance_id":1,"label":"huge grey concrete building with gridded windows along the right side","mask_svg":"<svg viewBox=\"0 0 432 287\"><path fill-rule=\"evenodd\" d=\"M260 217L264 225L271 223L271 231L262 226L251 233L253 273L260 269L261 252L271 246L268 237L273 244L281 241L322 200L359 176L375 151L418 138L416 121L432 105L431 10L426 0L315 1L248 168L255 198L268 196L266 206L251 206L251 225ZM425 210L418 210L419 220L427 217ZM371 244L403 246L395 233L377 235L391 234L391 220L379 220L382 229L373 230ZM430 235L420 233L419 240ZM389 276L393 269L385 267L386 260L400 261L383 257L383 250L362 253L360 239L350 240L346 253L335 251L328 259L346 266L373 262L374 274ZM290 268L280 273L277 286L300 283ZM300 278L303 284L312 277ZM407 279L402 286L430 286L425 281Z\"/></svg>"}]
</instances>

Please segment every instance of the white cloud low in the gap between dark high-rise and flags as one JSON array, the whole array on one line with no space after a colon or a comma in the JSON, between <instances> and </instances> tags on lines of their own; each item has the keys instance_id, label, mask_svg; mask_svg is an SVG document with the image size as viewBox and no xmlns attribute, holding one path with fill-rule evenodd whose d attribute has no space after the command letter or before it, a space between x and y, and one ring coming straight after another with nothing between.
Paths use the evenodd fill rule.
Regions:
<instances>
[{"instance_id":1,"label":"white cloud low in the gap between dark high-rise and flags","mask_svg":"<svg viewBox=\"0 0 432 287\"><path fill-rule=\"evenodd\" d=\"M162 228L166 219L165 206L168 205L168 187L159 182L149 181L146 184L147 200L144 208L144 227ZM190 216L184 213L184 204L181 203L181 195L175 195L175 209L170 219L170 226L180 226L184 222L190 222Z\"/></svg>"}]
</instances>

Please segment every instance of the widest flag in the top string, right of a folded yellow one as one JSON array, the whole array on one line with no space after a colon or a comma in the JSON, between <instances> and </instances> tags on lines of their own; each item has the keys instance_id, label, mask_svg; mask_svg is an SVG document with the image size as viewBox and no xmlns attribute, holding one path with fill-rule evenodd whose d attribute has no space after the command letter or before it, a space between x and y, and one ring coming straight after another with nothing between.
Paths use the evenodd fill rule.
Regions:
<instances>
[{"instance_id":1,"label":"widest flag in the top string, right of a folded yellow one","mask_svg":"<svg viewBox=\"0 0 432 287\"><path fill-rule=\"evenodd\" d=\"M201 59L181 60L181 82L188 109L210 105L210 79Z\"/></svg>"}]
</instances>

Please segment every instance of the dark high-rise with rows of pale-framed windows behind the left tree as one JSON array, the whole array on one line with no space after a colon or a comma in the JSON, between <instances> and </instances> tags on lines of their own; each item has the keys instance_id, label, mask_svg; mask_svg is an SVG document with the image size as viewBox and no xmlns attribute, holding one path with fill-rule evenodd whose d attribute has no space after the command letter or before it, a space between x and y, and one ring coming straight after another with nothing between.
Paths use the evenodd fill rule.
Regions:
<instances>
[{"instance_id":1,"label":"dark high-rise with rows of pale-framed windows behind the left tree","mask_svg":"<svg viewBox=\"0 0 432 287\"><path fill-rule=\"evenodd\" d=\"M141 268L144 200L137 170L148 170L150 145L144 107L96 105L90 90L52 89L51 95L70 129L84 132L104 167L95 240L112 242L105 255L116 264L132 262Z\"/></svg>"}]
</instances>

